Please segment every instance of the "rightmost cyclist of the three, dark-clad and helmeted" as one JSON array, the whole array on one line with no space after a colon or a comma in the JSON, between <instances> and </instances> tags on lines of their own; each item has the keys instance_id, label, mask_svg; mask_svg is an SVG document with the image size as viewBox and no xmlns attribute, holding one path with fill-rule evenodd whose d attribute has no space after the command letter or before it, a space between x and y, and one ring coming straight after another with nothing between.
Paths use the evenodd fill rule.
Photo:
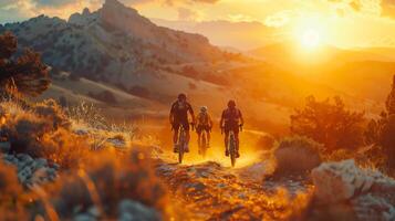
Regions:
<instances>
[{"instance_id":1,"label":"rightmost cyclist of the three, dark-clad and helmeted","mask_svg":"<svg viewBox=\"0 0 395 221\"><path fill-rule=\"evenodd\" d=\"M242 118L242 114L240 109L236 108L236 102L235 101L229 101L228 102L228 108L222 112L221 120L219 123L219 126L221 130L225 130L225 155L228 157L229 156L229 148L228 148L228 141L229 141L229 133L233 131L235 134L235 139L236 139L236 157L240 157L239 152L239 131L242 125L245 124L245 120Z\"/></svg>"}]
</instances>

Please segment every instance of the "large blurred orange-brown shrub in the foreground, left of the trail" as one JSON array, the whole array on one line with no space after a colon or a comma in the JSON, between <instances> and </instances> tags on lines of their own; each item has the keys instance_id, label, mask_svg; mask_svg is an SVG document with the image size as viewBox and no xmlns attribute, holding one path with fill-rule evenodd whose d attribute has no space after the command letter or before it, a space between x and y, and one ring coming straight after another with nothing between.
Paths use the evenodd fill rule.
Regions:
<instances>
[{"instance_id":1,"label":"large blurred orange-brown shrub in the foreground, left of the trail","mask_svg":"<svg viewBox=\"0 0 395 221\"><path fill-rule=\"evenodd\" d=\"M103 219L114 219L116 207L125 199L166 212L165 189L147 154L137 149L122 157L97 154L86 160L84 170L63 176L50 188L50 196L62 219L71 219L76 208L86 212L92 207L101 211Z\"/></svg>"}]
</instances>

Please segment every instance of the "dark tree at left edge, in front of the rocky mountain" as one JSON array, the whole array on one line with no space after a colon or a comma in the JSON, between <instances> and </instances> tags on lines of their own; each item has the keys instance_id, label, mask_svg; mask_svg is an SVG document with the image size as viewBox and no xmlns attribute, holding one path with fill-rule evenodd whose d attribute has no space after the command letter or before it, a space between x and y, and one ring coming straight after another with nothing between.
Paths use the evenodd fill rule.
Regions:
<instances>
[{"instance_id":1,"label":"dark tree at left edge, in front of the rocky mountain","mask_svg":"<svg viewBox=\"0 0 395 221\"><path fill-rule=\"evenodd\" d=\"M17 49L17 38L12 33L0 35L0 90L4 93L12 85L23 95L38 96L51 83L48 66L31 49L25 49L19 57L12 57Z\"/></svg>"}]
</instances>

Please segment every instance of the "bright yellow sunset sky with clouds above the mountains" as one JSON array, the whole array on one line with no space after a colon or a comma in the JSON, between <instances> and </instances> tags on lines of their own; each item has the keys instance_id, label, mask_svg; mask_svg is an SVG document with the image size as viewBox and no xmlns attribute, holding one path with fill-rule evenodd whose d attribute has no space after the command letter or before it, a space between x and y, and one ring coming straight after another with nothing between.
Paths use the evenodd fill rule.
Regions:
<instances>
[{"instance_id":1,"label":"bright yellow sunset sky with clouds above the mountains","mask_svg":"<svg viewBox=\"0 0 395 221\"><path fill-rule=\"evenodd\" d=\"M39 14L67 19L85 7L96 10L103 1L0 0L0 23ZM119 1L147 18L189 23L259 22L278 39L300 40L306 44L320 41L339 48L395 46L395 0ZM264 33L249 32L246 34L251 39L266 38Z\"/></svg>"}]
</instances>

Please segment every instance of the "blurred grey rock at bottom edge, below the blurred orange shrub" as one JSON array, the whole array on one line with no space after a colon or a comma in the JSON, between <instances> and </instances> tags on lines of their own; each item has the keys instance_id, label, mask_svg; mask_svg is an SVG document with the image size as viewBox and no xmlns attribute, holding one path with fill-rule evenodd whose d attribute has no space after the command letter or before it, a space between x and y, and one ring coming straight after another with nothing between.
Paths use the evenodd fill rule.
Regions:
<instances>
[{"instance_id":1,"label":"blurred grey rock at bottom edge, below the blurred orange shrub","mask_svg":"<svg viewBox=\"0 0 395 221\"><path fill-rule=\"evenodd\" d=\"M118 219L121 221L156 221L160 215L155 209L148 208L137 201L123 200L118 204Z\"/></svg>"}]
</instances>

